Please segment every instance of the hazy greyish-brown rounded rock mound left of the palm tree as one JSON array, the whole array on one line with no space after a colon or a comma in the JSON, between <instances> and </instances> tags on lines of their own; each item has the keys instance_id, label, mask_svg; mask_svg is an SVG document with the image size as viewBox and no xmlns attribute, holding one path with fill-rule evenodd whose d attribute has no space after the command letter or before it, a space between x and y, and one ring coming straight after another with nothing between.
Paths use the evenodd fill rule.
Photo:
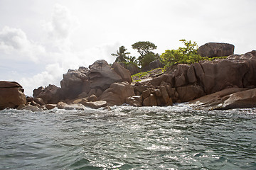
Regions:
<instances>
[{"instance_id":1,"label":"hazy greyish-brown rounded rock mound left of the palm tree","mask_svg":"<svg viewBox=\"0 0 256 170\"><path fill-rule=\"evenodd\" d=\"M69 69L60 81L61 88L54 85L39 87L33 91L33 97L43 98L45 103L70 103L69 101L75 98L86 98L91 95L100 97L114 82L132 82L129 71L118 63L110 67L105 60L97 60L89 68Z\"/></svg>"}]
</instances>

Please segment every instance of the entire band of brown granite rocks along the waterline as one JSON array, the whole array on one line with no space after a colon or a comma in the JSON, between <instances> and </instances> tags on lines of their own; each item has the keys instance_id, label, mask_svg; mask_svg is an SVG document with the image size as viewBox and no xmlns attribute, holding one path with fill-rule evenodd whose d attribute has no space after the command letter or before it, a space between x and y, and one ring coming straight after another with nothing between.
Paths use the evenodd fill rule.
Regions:
<instances>
[{"instance_id":1,"label":"entire band of brown granite rocks along the waterline","mask_svg":"<svg viewBox=\"0 0 256 170\"><path fill-rule=\"evenodd\" d=\"M169 72L132 82L129 70L97 60L89 68L70 69L61 87L49 85L23 94L16 82L0 81L0 109L107 108L171 106L189 102L195 109L256 107L256 51L226 59L178 64Z\"/></svg>"}]
</instances>

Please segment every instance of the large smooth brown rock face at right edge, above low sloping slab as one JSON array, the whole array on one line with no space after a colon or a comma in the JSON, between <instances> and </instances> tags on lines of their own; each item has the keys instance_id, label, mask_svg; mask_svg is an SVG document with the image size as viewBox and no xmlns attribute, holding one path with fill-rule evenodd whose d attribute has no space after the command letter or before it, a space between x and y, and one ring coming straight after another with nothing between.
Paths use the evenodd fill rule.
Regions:
<instances>
[{"instance_id":1,"label":"large smooth brown rock face at right edge, above low sloping slab","mask_svg":"<svg viewBox=\"0 0 256 170\"><path fill-rule=\"evenodd\" d=\"M254 88L256 86L256 51L245 55L230 55L225 60L204 61L193 64L198 84L206 94L230 87Z\"/></svg>"}]
</instances>

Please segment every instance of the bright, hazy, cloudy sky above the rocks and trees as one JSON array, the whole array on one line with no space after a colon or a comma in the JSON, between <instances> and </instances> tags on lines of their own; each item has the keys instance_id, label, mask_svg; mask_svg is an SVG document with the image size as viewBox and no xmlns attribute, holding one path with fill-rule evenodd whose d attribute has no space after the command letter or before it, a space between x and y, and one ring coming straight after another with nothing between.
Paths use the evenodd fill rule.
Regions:
<instances>
[{"instance_id":1,"label":"bright, hazy, cloudy sky above the rocks and trees","mask_svg":"<svg viewBox=\"0 0 256 170\"><path fill-rule=\"evenodd\" d=\"M88 67L124 45L153 42L160 55L181 39L226 42L235 54L256 50L255 0L0 0L0 80L31 96L60 86L68 69Z\"/></svg>"}]
</instances>

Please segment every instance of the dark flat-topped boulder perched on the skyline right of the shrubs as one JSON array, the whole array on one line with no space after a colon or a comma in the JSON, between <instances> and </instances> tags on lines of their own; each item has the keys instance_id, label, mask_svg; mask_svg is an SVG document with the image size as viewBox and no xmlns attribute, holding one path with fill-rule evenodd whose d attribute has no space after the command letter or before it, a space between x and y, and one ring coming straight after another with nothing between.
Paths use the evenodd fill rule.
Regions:
<instances>
[{"instance_id":1,"label":"dark flat-topped boulder perched on the skyline right of the shrubs","mask_svg":"<svg viewBox=\"0 0 256 170\"><path fill-rule=\"evenodd\" d=\"M227 43L208 42L198 48L198 55L203 57L223 57L234 54L234 45Z\"/></svg>"}]
</instances>

